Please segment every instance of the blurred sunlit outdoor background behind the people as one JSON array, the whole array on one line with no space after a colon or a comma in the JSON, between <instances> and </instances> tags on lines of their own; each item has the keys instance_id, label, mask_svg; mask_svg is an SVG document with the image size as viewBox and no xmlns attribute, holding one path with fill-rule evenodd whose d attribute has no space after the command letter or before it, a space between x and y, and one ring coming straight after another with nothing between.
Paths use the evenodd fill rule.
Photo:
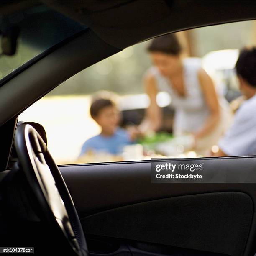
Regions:
<instances>
[{"instance_id":1,"label":"blurred sunlit outdoor background behind the people","mask_svg":"<svg viewBox=\"0 0 256 256\"><path fill-rule=\"evenodd\" d=\"M40 10L37 10L37 15L38 12ZM22 17L13 17L13 22L17 22L17 19L22 19ZM59 19L61 20L62 17L60 16ZM53 38L55 43L63 40L61 33L56 37L56 30L51 24L47 24L47 21L46 23L38 22L36 26L38 31L47 31L51 27L51 30L47 31L51 44ZM82 29L77 23L67 23L67 26L72 27L70 35ZM233 69L238 50L244 46L256 44L255 29L256 21L245 21L177 33L184 49L183 56L202 58L202 65L215 81L216 90L232 104L234 104L233 100L241 95ZM64 37L66 36L65 34ZM47 40L41 41L42 47L47 49ZM114 93L115 101L122 113L121 126L131 123L137 125L141 122L149 104L142 83L143 74L151 66L146 52L148 43L146 41L131 46L79 72L20 114L19 120L34 121L44 126L49 150L57 164L81 162L78 156L82 144L88 138L100 133L100 127L89 114L90 102L95 93L102 92L102 90L105 91L104 93ZM21 40L15 56L0 58L0 77L5 77L15 67L20 67L41 51L28 44L26 40ZM168 137L166 134L172 134L174 113L172 108L168 107L172 98L166 92L159 92L157 102L164 111L163 127L159 136L142 141L142 148L140 146L133 148L133 152L138 152L137 156L131 155L131 149L127 149L126 156L113 158L97 154L84 158L82 162L140 160L150 159L152 156L164 156L163 152L157 152L154 146L164 141ZM173 157L201 156L194 151L188 151L185 154L184 147L179 146L178 143L177 154L172 155ZM152 154L145 155L145 148Z\"/></svg>"}]
</instances>

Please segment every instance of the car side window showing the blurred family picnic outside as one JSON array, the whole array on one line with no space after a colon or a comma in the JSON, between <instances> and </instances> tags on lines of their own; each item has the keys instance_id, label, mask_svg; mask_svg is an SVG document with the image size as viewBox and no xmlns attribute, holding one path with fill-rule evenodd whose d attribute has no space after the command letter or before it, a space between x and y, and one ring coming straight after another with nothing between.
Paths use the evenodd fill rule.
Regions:
<instances>
[{"instance_id":1,"label":"car side window showing the blurred family picnic outside","mask_svg":"<svg viewBox=\"0 0 256 256\"><path fill-rule=\"evenodd\" d=\"M256 63L255 26L209 26L136 44L63 82L19 120L44 126L57 164L253 155L256 122L246 113L256 106L256 84L243 67ZM235 67L241 49L243 80Z\"/></svg>"}]
</instances>

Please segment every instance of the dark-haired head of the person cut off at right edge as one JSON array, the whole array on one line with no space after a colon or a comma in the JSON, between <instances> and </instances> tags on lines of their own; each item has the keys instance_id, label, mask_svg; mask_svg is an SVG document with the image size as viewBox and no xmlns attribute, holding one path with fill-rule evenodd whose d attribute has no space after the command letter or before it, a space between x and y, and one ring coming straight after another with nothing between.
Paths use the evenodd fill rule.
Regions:
<instances>
[{"instance_id":1,"label":"dark-haired head of the person cut off at right edge","mask_svg":"<svg viewBox=\"0 0 256 256\"><path fill-rule=\"evenodd\" d=\"M256 47L244 48L240 51L236 62L241 92L252 97L256 92Z\"/></svg>"}]
</instances>

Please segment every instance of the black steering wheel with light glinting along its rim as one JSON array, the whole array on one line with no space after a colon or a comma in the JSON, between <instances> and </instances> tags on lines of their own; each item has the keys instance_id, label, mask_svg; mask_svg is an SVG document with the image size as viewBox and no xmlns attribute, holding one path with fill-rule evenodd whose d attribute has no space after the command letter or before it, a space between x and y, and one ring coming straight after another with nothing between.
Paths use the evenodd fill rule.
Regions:
<instances>
[{"instance_id":1,"label":"black steering wheel with light glinting along its rim","mask_svg":"<svg viewBox=\"0 0 256 256\"><path fill-rule=\"evenodd\" d=\"M35 128L24 123L16 129L15 148L44 216L59 226L74 254L87 256L87 243L76 208L46 143Z\"/></svg>"}]
</instances>

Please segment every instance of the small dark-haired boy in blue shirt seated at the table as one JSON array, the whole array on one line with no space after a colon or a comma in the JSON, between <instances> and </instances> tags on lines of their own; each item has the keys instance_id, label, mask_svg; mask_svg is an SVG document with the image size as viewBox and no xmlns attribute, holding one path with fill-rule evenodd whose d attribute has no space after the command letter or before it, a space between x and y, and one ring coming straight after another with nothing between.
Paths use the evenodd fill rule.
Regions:
<instances>
[{"instance_id":1,"label":"small dark-haired boy in blue shirt seated at the table","mask_svg":"<svg viewBox=\"0 0 256 256\"><path fill-rule=\"evenodd\" d=\"M84 142L80 156L88 151L120 154L123 146L133 142L132 135L118 127L120 112L111 100L100 98L92 102L90 115L100 125L102 131Z\"/></svg>"}]
</instances>

